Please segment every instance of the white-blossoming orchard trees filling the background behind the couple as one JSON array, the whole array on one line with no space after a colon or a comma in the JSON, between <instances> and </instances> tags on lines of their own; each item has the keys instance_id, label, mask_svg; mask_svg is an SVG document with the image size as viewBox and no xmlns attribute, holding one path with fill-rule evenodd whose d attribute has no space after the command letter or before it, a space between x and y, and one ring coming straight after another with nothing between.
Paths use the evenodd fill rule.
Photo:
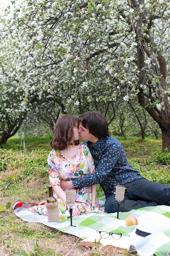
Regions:
<instances>
[{"instance_id":1,"label":"white-blossoming orchard trees filling the background behind the couple","mask_svg":"<svg viewBox=\"0 0 170 256\"><path fill-rule=\"evenodd\" d=\"M99 110L170 150L169 0L13 0L0 15L0 144Z\"/></svg>"}]
</instances>

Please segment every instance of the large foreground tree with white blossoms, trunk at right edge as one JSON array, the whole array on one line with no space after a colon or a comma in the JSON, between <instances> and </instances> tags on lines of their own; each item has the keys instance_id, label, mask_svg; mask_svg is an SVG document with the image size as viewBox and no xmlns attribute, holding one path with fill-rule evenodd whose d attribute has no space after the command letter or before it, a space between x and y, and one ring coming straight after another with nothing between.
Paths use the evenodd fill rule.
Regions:
<instances>
[{"instance_id":1,"label":"large foreground tree with white blossoms, trunk at right edge","mask_svg":"<svg viewBox=\"0 0 170 256\"><path fill-rule=\"evenodd\" d=\"M55 96L64 111L97 109L110 121L117 102L136 102L170 150L169 2L20 0L8 22L26 99Z\"/></svg>"}]
</instances>

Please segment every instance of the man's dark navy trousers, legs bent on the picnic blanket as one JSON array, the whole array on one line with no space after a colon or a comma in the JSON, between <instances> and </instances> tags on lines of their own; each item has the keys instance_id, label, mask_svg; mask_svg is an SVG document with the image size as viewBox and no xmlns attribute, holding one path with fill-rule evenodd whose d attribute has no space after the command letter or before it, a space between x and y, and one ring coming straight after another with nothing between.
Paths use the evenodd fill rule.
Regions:
<instances>
[{"instance_id":1,"label":"man's dark navy trousers, legs bent on the picnic blanket","mask_svg":"<svg viewBox=\"0 0 170 256\"><path fill-rule=\"evenodd\" d=\"M126 187L124 200L120 205L122 212L161 204L170 206L170 186L145 178L132 181L124 186ZM108 213L117 212L115 194L110 194L106 199L105 210Z\"/></svg>"}]
</instances>

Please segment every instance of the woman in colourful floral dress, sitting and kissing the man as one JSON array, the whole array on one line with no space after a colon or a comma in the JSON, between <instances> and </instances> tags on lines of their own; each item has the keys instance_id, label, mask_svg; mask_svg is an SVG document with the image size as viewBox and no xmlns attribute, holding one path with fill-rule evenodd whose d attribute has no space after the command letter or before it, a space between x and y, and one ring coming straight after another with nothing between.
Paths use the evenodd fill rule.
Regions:
<instances>
[{"instance_id":1,"label":"woman in colourful floral dress, sitting and kissing the man","mask_svg":"<svg viewBox=\"0 0 170 256\"><path fill-rule=\"evenodd\" d=\"M60 186L60 180L80 178L95 171L93 157L85 143L79 143L78 121L71 115L63 115L57 119L53 139L50 143L51 152L48 157L49 180L54 190L54 197L59 202L59 216L70 216L66 206L66 193ZM73 216L95 211L96 185L75 189L75 205ZM29 208L34 213L47 215L42 205Z\"/></svg>"}]
</instances>

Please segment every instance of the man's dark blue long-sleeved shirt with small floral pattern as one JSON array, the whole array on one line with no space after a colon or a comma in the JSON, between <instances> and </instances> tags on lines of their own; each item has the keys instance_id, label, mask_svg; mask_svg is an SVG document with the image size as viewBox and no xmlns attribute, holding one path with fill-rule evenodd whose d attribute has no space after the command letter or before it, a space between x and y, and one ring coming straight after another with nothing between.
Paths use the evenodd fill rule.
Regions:
<instances>
[{"instance_id":1,"label":"man's dark blue long-sleeved shirt with small floral pattern","mask_svg":"<svg viewBox=\"0 0 170 256\"><path fill-rule=\"evenodd\" d=\"M114 193L115 186L140 179L141 175L128 163L120 141L110 135L98 139L95 145L87 145L95 162L95 173L73 180L75 189L93 184L101 184L106 198Z\"/></svg>"}]
</instances>

